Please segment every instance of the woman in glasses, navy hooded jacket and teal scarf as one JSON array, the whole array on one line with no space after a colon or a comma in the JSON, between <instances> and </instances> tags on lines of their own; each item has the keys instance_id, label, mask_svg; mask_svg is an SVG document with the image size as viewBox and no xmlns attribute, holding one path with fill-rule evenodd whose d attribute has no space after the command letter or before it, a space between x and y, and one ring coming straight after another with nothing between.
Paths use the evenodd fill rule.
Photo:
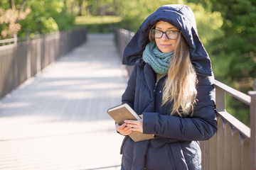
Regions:
<instances>
[{"instance_id":1,"label":"woman in glasses, navy hooded jacket and teal scarf","mask_svg":"<svg viewBox=\"0 0 256 170\"><path fill-rule=\"evenodd\" d=\"M134 70L122 103L142 120L116 125L125 135L122 169L201 169L198 140L217 130L215 90L191 8L167 5L152 13L124 50L123 63ZM132 131L154 139L134 142Z\"/></svg>"}]
</instances>

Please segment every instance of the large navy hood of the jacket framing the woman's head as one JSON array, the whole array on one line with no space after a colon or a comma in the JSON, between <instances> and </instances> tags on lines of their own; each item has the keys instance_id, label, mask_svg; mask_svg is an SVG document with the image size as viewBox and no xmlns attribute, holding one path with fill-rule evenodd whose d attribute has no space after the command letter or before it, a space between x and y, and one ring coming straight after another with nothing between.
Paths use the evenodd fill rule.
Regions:
<instances>
[{"instance_id":1,"label":"large navy hood of the jacket framing the woman's head","mask_svg":"<svg viewBox=\"0 0 256 170\"><path fill-rule=\"evenodd\" d=\"M149 43L149 31L159 21L166 21L181 30L181 35L188 43L191 62L196 73L211 76L210 58L198 37L193 11L186 5L161 6L148 16L125 48L123 64L131 66L142 63L143 51Z\"/></svg>"}]
</instances>

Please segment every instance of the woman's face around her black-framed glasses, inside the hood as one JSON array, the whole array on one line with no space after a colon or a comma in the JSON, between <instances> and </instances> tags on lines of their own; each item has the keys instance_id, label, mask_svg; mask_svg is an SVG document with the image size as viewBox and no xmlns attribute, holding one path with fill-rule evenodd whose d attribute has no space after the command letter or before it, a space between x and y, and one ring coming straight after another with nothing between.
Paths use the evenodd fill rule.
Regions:
<instances>
[{"instance_id":1,"label":"woman's face around her black-framed glasses, inside the hood","mask_svg":"<svg viewBox=\"0 0 256 170\"><path fill-rule=\"evenodd\" d=\"M164 22L164 21L159 21L158 23L156 23L156 31L159 32L159 30L166 32L169 30L178 30L178 28L176 28L175 26L171 25L170 23ZM178 37L178 36L177 36ZM159 48L159 50L163 53L166 52L173 52L176 42L177 42L176 38L175 40L171 40L169 38L166 37L166 34L163 33L163 36L161 38L155 38L156 41L156 45Z\"/></svg>"}]
</instances>

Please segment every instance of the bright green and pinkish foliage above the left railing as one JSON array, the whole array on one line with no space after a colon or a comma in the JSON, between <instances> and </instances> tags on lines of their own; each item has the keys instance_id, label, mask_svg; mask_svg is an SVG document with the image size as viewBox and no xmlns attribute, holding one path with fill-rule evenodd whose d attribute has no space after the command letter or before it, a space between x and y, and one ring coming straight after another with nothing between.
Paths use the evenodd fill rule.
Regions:
<instances>
[{"instance_id":1,"label":"bright green and pinkish foliage above the left railing","mask_svg":"<svg viewBox=\"0 0 256 170\"><path fill-rule=\"evenodd\" d=\"M0 13L1 38L68 30L75 21L73 13L66 12L65 0L4 0L0 2Z\"/></svg>"}]
</instances>

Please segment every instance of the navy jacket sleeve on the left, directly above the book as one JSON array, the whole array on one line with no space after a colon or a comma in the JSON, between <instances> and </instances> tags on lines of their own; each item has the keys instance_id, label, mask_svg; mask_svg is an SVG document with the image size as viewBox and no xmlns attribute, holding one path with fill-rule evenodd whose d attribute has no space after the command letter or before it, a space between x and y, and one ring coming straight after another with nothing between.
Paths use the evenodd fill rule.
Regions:
<instances>
[{"instance_id":1,"label":"navy jacket sleeve on the left, directly above the book","mask_svg":"<svg viewBox=\"0 0 256 170\"><path fill-rule=\"evenodd\" d=\"M136 77L137 77L137 65L134 66L132 74L129 77L127 83L127 89L125 89L122 95L122 103L127 103L131 108L134 108L134 96L136 87Z\"/></svg>"}]
</instances>

